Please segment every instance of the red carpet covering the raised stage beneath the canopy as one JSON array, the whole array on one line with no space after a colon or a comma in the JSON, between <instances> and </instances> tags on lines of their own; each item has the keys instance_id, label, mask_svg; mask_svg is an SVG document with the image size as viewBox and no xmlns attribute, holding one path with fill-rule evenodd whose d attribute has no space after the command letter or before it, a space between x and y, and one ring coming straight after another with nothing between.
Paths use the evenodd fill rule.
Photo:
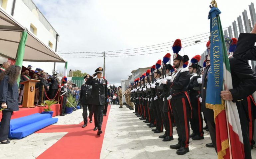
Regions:
<instances>
[{"instance_id":1,"label":"red carpet covering the raised stage beneath the canopy","mask_svg":"<svg viewBox=\"0 0 256 159\"><path fill-rule=\"evenodd\" d=\"M11 119L25 117L35 113L41 113L46 107L35 107L35 108L20 108L19 111L13 112ZM53 117L60 115L60 104L54 104L51 106L53 111ZM0 121L2 119L2 112L0 112Z\"/></svg>"}]
</instances>

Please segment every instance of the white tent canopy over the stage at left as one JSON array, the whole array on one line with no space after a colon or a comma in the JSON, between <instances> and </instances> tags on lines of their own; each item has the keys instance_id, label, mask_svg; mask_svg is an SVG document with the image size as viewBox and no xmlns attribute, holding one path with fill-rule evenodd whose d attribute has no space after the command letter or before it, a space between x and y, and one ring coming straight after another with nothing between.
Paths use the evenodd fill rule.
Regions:
<instances>
[{"instance_id":1,"label":"white tent canopy over the stage at left","mask_svg":"<svg viewBox=\"0 0 256 159\"><path fill-rule=\"evenodd\" d=\"M16 59L21 32L25 27L17 23L0 8L0 55ZM32 33L28 32L23 61L66 62L51 48L43 44Z\"/></svg>"}]
</instances>

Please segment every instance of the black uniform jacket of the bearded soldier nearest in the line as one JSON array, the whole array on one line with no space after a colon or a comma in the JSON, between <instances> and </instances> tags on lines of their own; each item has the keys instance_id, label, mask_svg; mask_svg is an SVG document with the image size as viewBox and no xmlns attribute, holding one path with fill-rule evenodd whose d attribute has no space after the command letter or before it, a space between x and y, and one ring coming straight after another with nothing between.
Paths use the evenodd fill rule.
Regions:
<instances>
[{"instance_id":1,"label":"black uniform jacket of the bearded soldier nearest in the line","mask_svg":"<svg viewBox=\"0 0 256 159\"><path fill-rule=\"evenodd\" d=\"M186 97L185 92L188 91L190 77L188 68L185 68L173 76L174 80L172 82L167 81L167 87L171 88L170 94L173 99Z\"/></svg>"}]
</instances>

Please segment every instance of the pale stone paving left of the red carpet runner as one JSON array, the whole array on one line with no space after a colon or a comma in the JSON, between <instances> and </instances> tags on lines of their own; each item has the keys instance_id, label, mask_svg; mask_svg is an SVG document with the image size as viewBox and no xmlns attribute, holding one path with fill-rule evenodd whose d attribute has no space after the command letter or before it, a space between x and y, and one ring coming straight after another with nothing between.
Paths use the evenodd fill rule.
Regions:
<instances>
[{"instance_id":1,"label":"pale stone paving left of the red carpet runner","mask_svg":"<svg viewBox=\"0 0 256 159\"><path fill-rule=\"evenodd\" d=\"M54 118L59 118L54 125L79 124L83 121L82 109ZM33 133L22 139L13 139L9 144L0 144L0 159L35 159L66 133Z\"/></svg>"}]
</instances>

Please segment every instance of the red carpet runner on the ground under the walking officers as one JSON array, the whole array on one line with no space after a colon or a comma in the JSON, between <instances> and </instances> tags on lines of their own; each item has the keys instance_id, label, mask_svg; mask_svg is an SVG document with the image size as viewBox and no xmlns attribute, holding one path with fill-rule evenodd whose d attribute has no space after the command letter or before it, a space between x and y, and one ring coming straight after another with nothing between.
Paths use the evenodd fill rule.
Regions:
<instances>
[{"instance_id":1,"label":"red carpet runner on the ground under the walking officers","mask_svg":"<svg viewBox=\"0 0 256 159\"><path fill-rule=\"evenodd\" d=\"M81 128L83 125L83 122L81 122L78 125L51 125L35 132L68 132L38 156L37 159L98 159L104 139L109 109L110 106L108 106L107 116L103 116L101 128L103 133L100 136L97 135L97 131L93 131L94 121L88 123L85 128Z\"/></svg>"}]
</instances>

